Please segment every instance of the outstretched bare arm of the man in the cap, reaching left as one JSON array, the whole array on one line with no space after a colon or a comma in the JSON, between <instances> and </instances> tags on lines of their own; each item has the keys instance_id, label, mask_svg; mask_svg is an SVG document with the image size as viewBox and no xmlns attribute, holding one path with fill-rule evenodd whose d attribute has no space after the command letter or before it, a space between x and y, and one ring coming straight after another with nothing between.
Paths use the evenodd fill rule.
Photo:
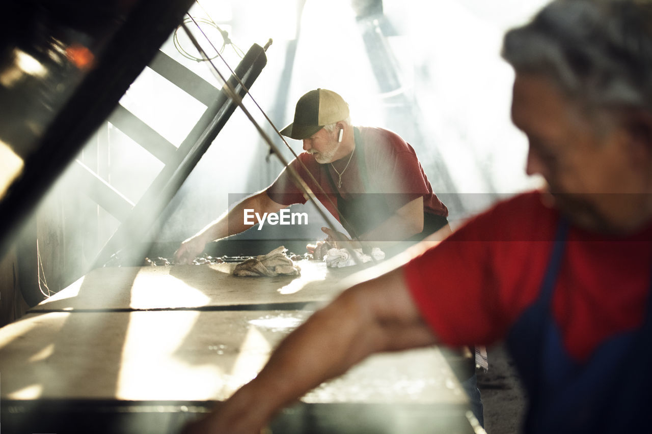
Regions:
<instances>
[{"instance_id":1,"label":"outstretched bare arm of the man in the cap, reaching left","mask_svg":"<svg viewBox=\"0 0 652 434\"><path fill-rule=\"evenodd\" d=\"M175 263L190 263L197 255L203 252L206 244L209 242L241 233L252 227L254 224L244 223L245 209L253 209L254 212L263 215L265 212L278 212L286 206L274 202L264 190L246 197L246 199L235 205L231 211L224 212L217 220L201 229L196 235L182 242L174 255ZM252 221L255 223L255 219Z\"/></svg>"}]
</instances>

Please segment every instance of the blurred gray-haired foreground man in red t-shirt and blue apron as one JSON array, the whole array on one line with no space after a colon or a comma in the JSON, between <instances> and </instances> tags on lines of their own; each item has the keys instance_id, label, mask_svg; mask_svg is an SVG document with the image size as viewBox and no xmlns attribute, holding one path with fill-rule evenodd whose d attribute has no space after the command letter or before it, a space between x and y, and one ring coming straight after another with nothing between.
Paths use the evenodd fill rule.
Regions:
<instances>
[{"instance_id":1,"label":"blurred gray-haired foreground man in red t-shirt and blue apron","mask_svg":"<svg viewBox=\"0 0 652 434\"><path fill-rule=\"evenodd\" d=\"M258 432L378 351L500 340L526 433L651 432L652 2L553 1L503 57L527 173L547 188L344 291L188 433Z\"/></svg>"}]
</instances>

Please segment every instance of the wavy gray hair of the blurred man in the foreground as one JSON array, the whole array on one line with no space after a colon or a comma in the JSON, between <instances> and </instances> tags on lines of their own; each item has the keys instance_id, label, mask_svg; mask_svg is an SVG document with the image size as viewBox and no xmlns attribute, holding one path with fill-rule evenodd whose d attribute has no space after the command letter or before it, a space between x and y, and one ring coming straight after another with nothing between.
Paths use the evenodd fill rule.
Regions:
<instances>
[{"instance_id":1,"label":"wavy gray hair of the blurred man in the foreground","mask_svg":"<svg viewBox=\"0 0 652 434\"><path fill-rule=\"evenodd\" d=\"M512 29L503 58L587 109L652 111L652 1L556 0Z\"/></svg>"}]
</instances>

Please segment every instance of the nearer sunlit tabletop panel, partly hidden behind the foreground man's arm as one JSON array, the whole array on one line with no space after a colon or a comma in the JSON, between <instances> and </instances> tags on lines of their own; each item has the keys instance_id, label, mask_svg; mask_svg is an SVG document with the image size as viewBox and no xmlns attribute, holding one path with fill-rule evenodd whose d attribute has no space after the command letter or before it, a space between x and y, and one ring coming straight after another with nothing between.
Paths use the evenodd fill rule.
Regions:
<instances>
[{"instance_id":1,"label":"nearer sunlit tabletop panel, partly hidden behind the foreground man's arm","mask_svg":"<svg viewBox=\"0 0 652 434\"><path fill-rule=\"evenodd\" d=\"M310 311L31 313L0 329L2 399L222 400ZM436 348L372 356L306 403L466 405Z\"/></svg>"}]
</instances>

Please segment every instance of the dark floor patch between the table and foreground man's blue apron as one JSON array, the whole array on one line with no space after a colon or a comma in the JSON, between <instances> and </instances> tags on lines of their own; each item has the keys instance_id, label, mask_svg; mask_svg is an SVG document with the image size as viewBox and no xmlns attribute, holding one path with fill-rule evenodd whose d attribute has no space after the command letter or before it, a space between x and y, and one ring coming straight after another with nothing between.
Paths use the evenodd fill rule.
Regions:
<instances>
[{"instance_id":1,"label":"dark floor patch between the table and foreground man's blue apron","mask_svg":"<svg viewBox=\"0 0 652 434\"><path fill-rule=\"evenodd\" d=\"M526 397L514 364L503 345L488 349L489 370L478 373L488 434L516 434L526 410Z\"/></svg>"}]
</instances>

